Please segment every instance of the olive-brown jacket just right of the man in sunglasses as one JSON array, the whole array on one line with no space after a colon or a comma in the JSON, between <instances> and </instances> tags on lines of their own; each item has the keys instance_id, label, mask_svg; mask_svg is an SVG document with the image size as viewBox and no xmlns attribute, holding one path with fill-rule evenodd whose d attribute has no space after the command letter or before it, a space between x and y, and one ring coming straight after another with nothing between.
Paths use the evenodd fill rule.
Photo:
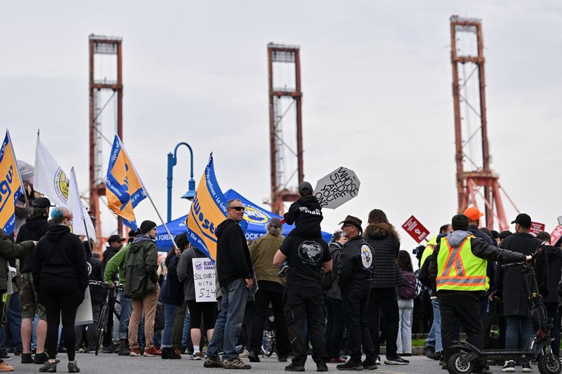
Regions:
<instances>
[{"instance_id":1,"label":"olive-brown jacket just right of the man in sunglasses","mask_svg":"<svg viewBox=\"0 0 562 374\"><path fill-rule=\"evenodd\" d=\"M251 262L254 262L258 284L259 281L270 281L285 286L287 280L277 275L279 269L273 265L273 256L275 256L282 243L283 236L273 236L269 233L260 236L251 243L250 257Z\"/></svg>"}]
</instances>

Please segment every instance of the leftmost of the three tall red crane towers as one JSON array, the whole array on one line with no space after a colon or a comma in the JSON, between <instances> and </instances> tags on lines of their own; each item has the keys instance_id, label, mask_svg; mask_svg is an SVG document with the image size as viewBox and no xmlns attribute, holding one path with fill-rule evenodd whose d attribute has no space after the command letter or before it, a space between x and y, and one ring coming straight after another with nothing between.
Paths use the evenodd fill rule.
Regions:
<instances>
[{"instance_id":1,"label":"leftmost of the three tall red crane towers","mask_svg":"<svg viewBox=\"0 0 562 374\"><path fill-rule=\"evenodd\" d=\"M102 235L100 219L100 196L105 196L105 168L107 163L103 159L103 141L112 145L113 134L117 133L123 139L123 55L122 38L112 36L89 36L90 51L90 210L96 217L96 250L101 252L105 238ZM113 63L117 62L117 65ZM113 66L112 66L113 65ZM94 71L94 66L98 69ZM108 70L98 74L98 70ZM109 77L106 75L109 73ZM109 99L105 100L105 95ZM113 119L113 133L109 134L109 139L103 134L102 121L103 110L112 100L117 100L115 105L115 117ZM105 202L103 202L105 204ZM122 220L118 219L117 234L122 235Z\"/></svg>"}]
</instances>

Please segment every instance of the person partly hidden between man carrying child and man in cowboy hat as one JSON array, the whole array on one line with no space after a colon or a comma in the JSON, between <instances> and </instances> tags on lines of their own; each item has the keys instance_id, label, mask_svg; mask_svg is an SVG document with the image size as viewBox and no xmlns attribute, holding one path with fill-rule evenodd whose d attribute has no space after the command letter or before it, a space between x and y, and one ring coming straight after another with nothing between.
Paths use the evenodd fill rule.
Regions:
<instances>
[{"instance_id":1,"label":"person partly hidden between man carrying child and man in cowboy hat","mask_svg":"<svg viewBox=\"0 0 562 374\"><path fill-rule=\"evenodd\" d=\"M329 255L332 258L332 285L324 295L324 309L326 310L326 352L329 363L344 363L346 360L340 356L341 338L344 336L346 321L344 319L344 303L341 301L341 289L336 269L338 268L341 248L347 241L341 230L334 232L332 241L329 243Z\"/></svg>"}]
</instances>

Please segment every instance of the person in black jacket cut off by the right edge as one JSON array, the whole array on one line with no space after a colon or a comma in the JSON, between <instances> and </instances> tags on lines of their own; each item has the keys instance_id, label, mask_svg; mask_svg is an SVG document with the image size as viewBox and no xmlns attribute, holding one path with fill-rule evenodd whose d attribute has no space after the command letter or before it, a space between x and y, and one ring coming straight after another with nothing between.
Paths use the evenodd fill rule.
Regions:
<instances>
[{"instance_id":1,"label":"person in black jacket cut off by the right edge","mask_svg":"<svg viewBox=\"0 0 562 374\"><path fill-rule=\"evenodd\" d=\"M556 246L551 246L551 237L548 232L539 232L537 234L537 239L539 241L544 241L547 246L544 248L547 251L548 260L548 288L549 295L544 299L544 307L547 308L548 316L553 319L554 323L550 330L550 337L553 339L552 344L549 346L552 349L552 353L556 356L560 356L560 312L558 310L558 295L556 294L556 288L558 288L558 283L562 279L562 240L558 240Z\"/></svg>"}]
</instances>

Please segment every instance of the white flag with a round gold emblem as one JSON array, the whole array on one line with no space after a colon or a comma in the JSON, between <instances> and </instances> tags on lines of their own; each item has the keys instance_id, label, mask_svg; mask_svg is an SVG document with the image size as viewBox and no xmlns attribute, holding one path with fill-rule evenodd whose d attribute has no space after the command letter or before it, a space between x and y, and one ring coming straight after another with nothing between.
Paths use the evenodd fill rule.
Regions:
<instances>
[{"instance_id":1,"label":"white flag with a round gold emblem","mask_svg":"<svg viewBox=\"0 0 562 374\"><path fill-rule=\"evenodd\" d=\"M39 141L35 146L35 171L33 189L44 194L51 203L67 206L68 178L53 155Z\"/></svg>"}]
</instances>

